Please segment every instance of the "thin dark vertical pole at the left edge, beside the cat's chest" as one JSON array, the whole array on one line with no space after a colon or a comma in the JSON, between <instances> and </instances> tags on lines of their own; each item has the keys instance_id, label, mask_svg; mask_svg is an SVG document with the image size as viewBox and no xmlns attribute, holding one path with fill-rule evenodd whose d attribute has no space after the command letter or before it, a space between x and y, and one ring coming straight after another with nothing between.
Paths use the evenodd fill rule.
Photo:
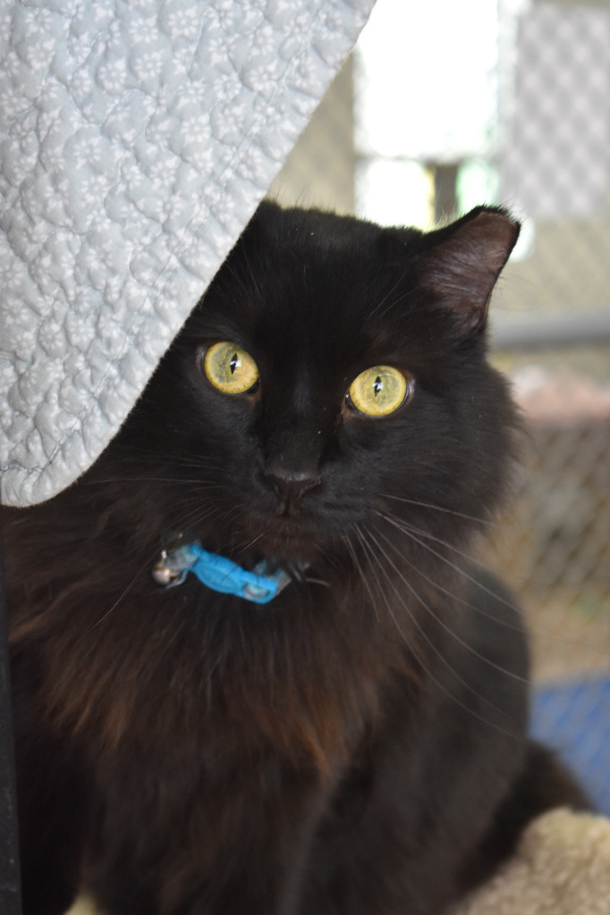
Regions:
<instances>
[{"instance_id":1,"label":"thin dark vertical pole at the left edge, beside the cat's chest","mask_svg":"<svg viewBox=\"0 0 610 915\"><path fill-rule=\"evenodd\" d=\"M0 530L0 912L20 915L21 888L16 818L11 683L6 640L6 592Z\"/></svg>"}]
</instances>

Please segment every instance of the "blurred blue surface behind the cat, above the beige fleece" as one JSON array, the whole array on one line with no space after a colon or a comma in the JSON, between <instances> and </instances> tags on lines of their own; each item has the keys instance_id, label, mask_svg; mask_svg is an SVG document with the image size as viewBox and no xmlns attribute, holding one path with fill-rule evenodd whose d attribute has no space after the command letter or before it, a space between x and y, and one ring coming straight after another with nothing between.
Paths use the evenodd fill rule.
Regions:
<instances>
[{"instance_id":1,"label":"blurred blue surface behind the cat, above the beige fleece","mask_svg":"<svg viewBox=\"0 0 610 915\"><path fill-rule=\"evenodd\" d=\"M531 732L559 752L595 808L610 816L610 672L540 685Z\"/></svg>"}]
</instances>

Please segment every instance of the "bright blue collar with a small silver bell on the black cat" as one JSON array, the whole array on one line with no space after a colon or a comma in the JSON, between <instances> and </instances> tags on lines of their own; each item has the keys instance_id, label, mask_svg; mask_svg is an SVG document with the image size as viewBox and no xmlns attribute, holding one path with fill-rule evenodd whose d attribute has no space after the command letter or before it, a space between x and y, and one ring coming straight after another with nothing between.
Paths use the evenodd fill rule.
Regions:
<instances>
[{"instance_id":1,"label":"bright blue collar with a small silver bell on the black cat","mask_svg":"<svg viewBox=\"0 0 610 915\"><path fill-rule=\"evenodd\" d=\"M225 556L208 553L197 542L169 552L163 550L152 574L158 585L175 587L182 584L189 572L213 591L244 597L255 604L267 604L290 581L282 569L269 575L265 560L248 572Z\"/></svg>"}]
</instances>

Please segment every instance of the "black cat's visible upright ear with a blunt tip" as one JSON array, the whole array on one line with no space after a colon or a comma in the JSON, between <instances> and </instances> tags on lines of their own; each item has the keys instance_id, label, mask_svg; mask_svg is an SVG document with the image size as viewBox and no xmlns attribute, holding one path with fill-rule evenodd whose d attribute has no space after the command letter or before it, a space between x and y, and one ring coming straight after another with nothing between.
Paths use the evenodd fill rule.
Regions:
<instances>
[{"instance_id":1,"label":"black cat's visible upright ear with a blunt tip","mask_svg":"<svg viewBox=\"0 0 610 915\"><path fill-rule=\"evenodd\" d=\"M515 247L519 223L506 210L477 207L431 232L421 282L452 312L463 337L485 325L496 280Z\"/></svg>"}]
</instances>

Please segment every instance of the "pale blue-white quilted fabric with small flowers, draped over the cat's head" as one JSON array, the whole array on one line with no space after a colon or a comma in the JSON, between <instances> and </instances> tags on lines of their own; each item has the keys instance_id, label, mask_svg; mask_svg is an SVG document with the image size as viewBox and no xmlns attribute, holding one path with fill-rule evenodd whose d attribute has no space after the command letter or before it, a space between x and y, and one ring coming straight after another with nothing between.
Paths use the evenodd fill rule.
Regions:
<instances>
[{"instance_id":1,"label":"pale blue-white quilted fabric with small flowers, draped over the cat's head","mask_svg":"<svg viewBox=\"0 0 610 915\"><path fill-rule=\"evenodd\" d=\"M2 501L98 457L374 0L0 0Z\"/></svg>"}]
</instances>

